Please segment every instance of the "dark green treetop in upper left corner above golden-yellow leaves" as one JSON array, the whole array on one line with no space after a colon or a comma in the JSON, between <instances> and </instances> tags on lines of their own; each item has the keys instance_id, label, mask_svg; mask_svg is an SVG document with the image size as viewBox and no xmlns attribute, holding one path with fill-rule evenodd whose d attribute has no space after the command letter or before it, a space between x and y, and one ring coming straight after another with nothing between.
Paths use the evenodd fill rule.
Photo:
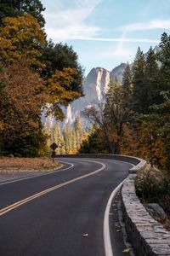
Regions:
<instances>
[{"instance_id":1,"label":"dark green treetop in upper left corner above golden-yellow leaves","mask_svg":"<svg viewBox=\"0 0 170 256\"><path fill-rule=\"evenodd\" d=\"M39 0L1 0L0 3L0 22L4 24L5 17L15 17L19 15L29 14L35 17L40 26L45 25L42 16L43 8Z\"/></svg>"}]
</instances>

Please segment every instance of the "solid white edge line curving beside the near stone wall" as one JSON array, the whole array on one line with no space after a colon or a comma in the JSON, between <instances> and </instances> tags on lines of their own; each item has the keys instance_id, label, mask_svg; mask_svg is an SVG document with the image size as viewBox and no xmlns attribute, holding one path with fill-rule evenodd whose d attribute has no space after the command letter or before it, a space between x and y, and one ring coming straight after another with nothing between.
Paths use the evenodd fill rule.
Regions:
<instances>
[{"instance_id":1,"label":"solid white edge line curving beside the near stone wall","mask_svg":"<svg viewBox=\"0 0 170 256\"><path fill-rule=\"evenodd\" d=\"M113 251L112 251L112 247L111 247L110 226L109 226L109 213L110 213L110 209L111 209L111 201L115 197L118 190L121 188L124 181L125 181L125 179L122 181L122 183L120 183L116 187L116 189L114 189L112 191L109 201L107 202L107 206L105 208L104 225L103 225L105 256L113 256Z\"/></svg>"}]
</instances>

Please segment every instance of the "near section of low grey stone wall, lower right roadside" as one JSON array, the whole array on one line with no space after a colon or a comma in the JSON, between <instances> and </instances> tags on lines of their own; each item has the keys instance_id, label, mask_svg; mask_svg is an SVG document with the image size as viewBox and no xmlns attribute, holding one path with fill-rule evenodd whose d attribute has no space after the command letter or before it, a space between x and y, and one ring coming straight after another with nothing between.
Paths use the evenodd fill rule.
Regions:
<instances>
[{"instance_id":1,"label":"near section of low grey stone wall, lower right roadside","mask_svg":"<svg viewBox=\"0 0 170 256\"><path fill-rule=\"evenodd\" d=\"M122 187L122 212L129 241L138 256L170 256L170 232L150 217L135 193L130 174Z\"/></svg>"}]
</instances>

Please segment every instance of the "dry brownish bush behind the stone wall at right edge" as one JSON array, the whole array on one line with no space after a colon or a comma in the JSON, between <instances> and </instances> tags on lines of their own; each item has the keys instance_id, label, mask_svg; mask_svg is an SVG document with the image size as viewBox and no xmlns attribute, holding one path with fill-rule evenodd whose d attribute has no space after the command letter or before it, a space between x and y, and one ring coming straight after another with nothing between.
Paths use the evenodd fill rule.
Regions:
<instances>
[{"instance_id":1,"label":"dry brownish bush behind the stone wall at right edge","mask_svg":"<svg viewBox=\"0 0 170 256\"><path fill-rule=\"evenodd\" d=\"M167 230L170 230L170 175L150 165L140 172L135 178L136 193L139 200L145 205L149 203L157 203L163 208L167 214L164 216L156 216L156 220L164 224Z\"/></svg>"}]
</instances>

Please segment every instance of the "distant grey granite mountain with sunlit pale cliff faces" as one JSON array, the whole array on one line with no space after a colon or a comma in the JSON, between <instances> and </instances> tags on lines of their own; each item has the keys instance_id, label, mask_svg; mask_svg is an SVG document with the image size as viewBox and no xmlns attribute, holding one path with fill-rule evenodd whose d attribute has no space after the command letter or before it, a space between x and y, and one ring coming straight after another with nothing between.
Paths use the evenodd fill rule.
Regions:
<instances>
[{"instance_id":1,"label":"distant grey granite mountain with sunlit pale cliff faces","mask_svg":"<svg viewBox=\"0 0 170 256\"><path fill-rule=\"evenodd\" d=\"M126 67L125 63L122 63L118 67L115 67L111 72L102 67L93 68L87 78L84 80L84 96L64 109L65 120L61 124L72 124L77 115L81 115L81 111L92 105L97 105L102 102L105 93L108 90L110 81L114 81L116 78L122 81L122 73ZM82 124L84 127L88 126L88 120L82 118Z\"/></svg>"}]
</instances>

